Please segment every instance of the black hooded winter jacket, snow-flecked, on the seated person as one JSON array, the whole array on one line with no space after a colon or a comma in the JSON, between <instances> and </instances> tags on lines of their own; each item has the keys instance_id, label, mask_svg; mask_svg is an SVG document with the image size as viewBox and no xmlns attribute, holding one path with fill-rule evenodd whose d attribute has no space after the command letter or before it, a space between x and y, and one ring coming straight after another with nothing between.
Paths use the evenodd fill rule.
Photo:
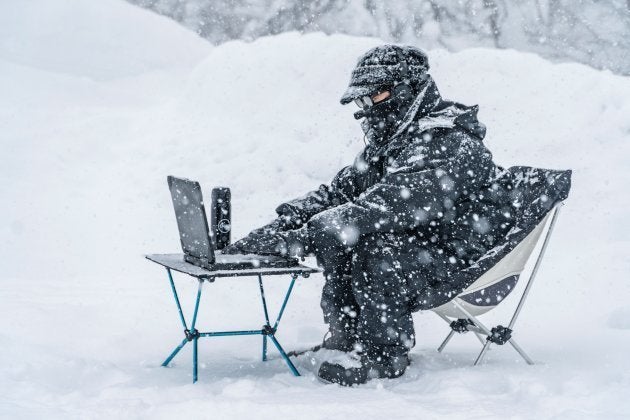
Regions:
<instances>
[{"instance_id":1,"label":"black hooded winter jacket, snow-flecked, on the seated person","mask_svg":"<svg viewBox=\"0 0 630 420\"><path fill-rule=\"evenodd\" d=\"M297 212L309 231L327 232L350 247L377 232L420 235L433 243L474 236L475 255L492 246L492 238L477 235L490 222L473 220L477 206L465 204L497 174L482 143L478 108L442 101L433 83L423 99L430 111L417 115L403 133L368 145L330 185L276 211ZM458 254L465 257L466 251Z\"/></svg>"}]
</instances>

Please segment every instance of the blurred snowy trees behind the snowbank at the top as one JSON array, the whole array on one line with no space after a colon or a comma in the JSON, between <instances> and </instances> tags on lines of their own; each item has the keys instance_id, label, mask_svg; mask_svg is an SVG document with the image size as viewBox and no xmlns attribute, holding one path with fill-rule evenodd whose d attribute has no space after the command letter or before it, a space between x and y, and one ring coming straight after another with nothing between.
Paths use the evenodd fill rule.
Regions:
<instances>
[{"instance_id":1,"label":"blurred snowy trees behind the snowbank at the top","mask_svg":"<svg viewBox=\"0 0 630 420\"><path fill-rule=\"evenodd\" d=\"M213 43L286 31L514 48L630 74L630 0L129 0Z\"/></svg>"}]
</instances>

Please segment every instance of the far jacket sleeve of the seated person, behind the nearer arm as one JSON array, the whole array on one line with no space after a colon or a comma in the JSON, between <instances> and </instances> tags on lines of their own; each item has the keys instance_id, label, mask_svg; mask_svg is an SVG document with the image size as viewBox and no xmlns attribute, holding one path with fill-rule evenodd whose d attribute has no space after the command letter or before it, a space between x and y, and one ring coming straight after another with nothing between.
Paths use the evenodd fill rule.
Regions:
<instances>
[{"instance_id":1,"label":"far jacket sleeve of the seated person, behind the nearer arm","mask_svg":"<svg viewBox=\"0 0 630 420\"><path fill-rule=\"evenodd\" d=\"M322 184L302 197L280 204L276 213L296 220L293 228L297 228L324 210L350 202L357 194L355 175L354 167L346 166L330 185Z\"/></svg>"}]
</instances>

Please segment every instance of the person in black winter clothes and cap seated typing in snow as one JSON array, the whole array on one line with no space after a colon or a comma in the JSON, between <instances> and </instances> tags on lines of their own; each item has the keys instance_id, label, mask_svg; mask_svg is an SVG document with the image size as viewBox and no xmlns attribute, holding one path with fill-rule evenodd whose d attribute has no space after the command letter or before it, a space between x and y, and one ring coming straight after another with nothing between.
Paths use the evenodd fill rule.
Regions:
<instances>
[{"instance_id":1,"label":"person in black winter clothes and cap seated typing in snow","mask_svg":"<svg viewBox=\"0 0 630 420\"><path fill-rule=\"evenodd\" d=\"M341 98L356 102L367 146L330 185L281 204L279 217L224 252L315 254L326 283L323 347L358 367L324 362L327 382L394 378L415 344L411 313L504 236L509 198L477 200L498 169L477 107L445 101L424 52L383 45L363 55Z\"/></svg>"}]
</instances>

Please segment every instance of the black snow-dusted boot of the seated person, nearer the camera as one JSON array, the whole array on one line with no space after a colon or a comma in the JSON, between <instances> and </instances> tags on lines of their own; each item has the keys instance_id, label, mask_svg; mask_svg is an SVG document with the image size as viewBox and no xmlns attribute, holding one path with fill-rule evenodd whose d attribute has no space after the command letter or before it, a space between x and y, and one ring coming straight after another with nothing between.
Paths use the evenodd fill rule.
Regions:
<instances>
[{"instance_id":1,"label":"black snow-dusted boot of the seated person, nearer the camera","mask_svg":"<svg viewBox=\"0 0 630 420\"><path fill-rule=\"evenodd\" d=\"M317 372L325 383L342 386L364 384L374 378L398 378L409 366L407 353L384 356L362 354L357 367L345 367L338 363L324 362Z\"/></svg>"}]
</instances>

